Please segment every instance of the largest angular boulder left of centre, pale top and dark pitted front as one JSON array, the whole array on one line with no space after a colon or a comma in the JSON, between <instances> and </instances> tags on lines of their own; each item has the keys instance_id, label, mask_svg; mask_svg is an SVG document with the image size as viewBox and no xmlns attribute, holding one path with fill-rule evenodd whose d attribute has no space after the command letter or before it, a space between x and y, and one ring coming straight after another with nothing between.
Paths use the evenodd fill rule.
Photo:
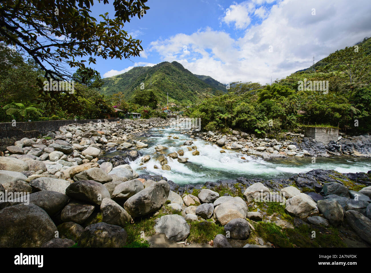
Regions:
<instances>
[{"instance_id":1,"label":"largest angular boulder left of centre, pale top and dark pitted front","mask_svg":"<svg viewBox=\"0 0 371 273\"><path fill-rule=\"evenodd\" d=\"M134 194L124 204L125 210L132 217L141 217L157 211L166 202L170 185L161 180Z\"/></svg>"}]
</instances>

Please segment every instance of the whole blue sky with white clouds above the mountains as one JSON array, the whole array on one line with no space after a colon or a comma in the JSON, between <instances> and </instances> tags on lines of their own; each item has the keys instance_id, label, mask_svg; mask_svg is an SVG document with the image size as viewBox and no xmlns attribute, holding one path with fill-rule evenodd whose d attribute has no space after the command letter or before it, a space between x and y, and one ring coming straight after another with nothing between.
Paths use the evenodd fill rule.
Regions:
<instances>
[{"instance_id":1,"label":"whole blue sky with white clouds above the mountains","mask_svg":"<svg viewBox=\"0 0 371 273\"><path fill-rule=\"evenodd\" d=\"M110 1L112 2L112 0ZM149 0L125 30L142 40L141 57L101 59L102 78L134 66L176 60L222 83L266 83L371 36L370 0ZM314 14L313 14L314 9ZM111 4L92 7L95 18ZM346 19L346 20L345 20Z\"/></svg>"}]
</instances>

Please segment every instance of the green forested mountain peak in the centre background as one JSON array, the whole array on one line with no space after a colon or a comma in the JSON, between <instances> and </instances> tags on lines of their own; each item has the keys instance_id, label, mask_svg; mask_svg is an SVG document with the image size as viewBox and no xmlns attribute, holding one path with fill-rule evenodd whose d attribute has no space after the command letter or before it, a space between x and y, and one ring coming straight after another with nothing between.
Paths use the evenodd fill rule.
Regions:
<instances>
[{"instance_id":1,"label":"green forested mountain peak in the centre background","mask_svg":"<svg viewBox=\"0 0 371 273\"><path fill-rule=\"evenodd\" d=\"M155 66L137 66L120 75L102 79L101 93L112 95L122 92L128 101L135 96L153 91L163 105L174 102L188 105L197 102L206 89L226 91L223 84L210 76L194 75L178 62L162 62ZM144 85L142 84L144 83ZM142 87L142 89L141 89Z\"/></svg>"}]
</instances>

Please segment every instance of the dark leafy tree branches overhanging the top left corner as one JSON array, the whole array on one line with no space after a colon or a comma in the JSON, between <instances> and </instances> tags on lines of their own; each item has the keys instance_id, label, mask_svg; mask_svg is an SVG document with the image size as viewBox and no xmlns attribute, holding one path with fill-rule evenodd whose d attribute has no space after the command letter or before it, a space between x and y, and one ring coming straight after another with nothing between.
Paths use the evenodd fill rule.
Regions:
<instances>
[{"instance_id":1,"label":"dark leafy tree branches overhanging the top left corner","mask_svg":"<svg viewBox=\"0 0 371 273\"><path fill-rule=\"evenodd\" d=\"M98 0L108 4L108 0ZM0 40L12 45L20 53L32 58L45 71L44 77L68 80L70 68L85 70L85 63L96 63L96 56L104 59L139 56L141 41L128 35L124 23L149 7L147 0L114 0L115 15L100 15L101 22L91 16L93 0L8 0L0 3ZM87 58L87 60L86 60ZM95 71L88 70L87 77ZM82 82L85 84L85 82ZM40 98L46 104L58 104L62 109L68 101L81 96L63 91L43 90L39 79Z\"/></svg>"}]
</instances>

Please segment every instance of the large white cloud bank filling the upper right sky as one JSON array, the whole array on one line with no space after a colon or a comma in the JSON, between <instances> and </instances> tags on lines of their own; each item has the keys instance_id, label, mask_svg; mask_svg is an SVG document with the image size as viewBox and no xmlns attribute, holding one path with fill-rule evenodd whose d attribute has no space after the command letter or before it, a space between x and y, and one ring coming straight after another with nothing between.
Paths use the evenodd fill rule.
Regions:
<instances>
[{"instance_id":1,"label":"large white cloud bank filling the upper right sky","mask_svg":"<svg viewBox=\"0 0 371 273\"><path fill-rule=\"evenodd\" d=\"M254 1L269 3L269 0ZM228 22L234 22L236 28L250 23L246 21L248 14L259 10L250 10L246 2L232 6L244 7L231 9L232 15L232 11L236 13ZM315 16L311 15L313 8ZM258 14L261 15L261 11L257 11ZM270 82L271 76L275 80L311 66L313 55L317 61L371 36L369 0L354 0L352 5L346 0L313 0L311 3L281 0L265 14L267 17L261 24L250 26L238 38L225 31L206 28L190 35L179 33L156 40L150 44L148 52L157 52L162 60L176 60L195 74L209 75L223 83L253 81L264 84ZM184 45L188 54L183 52ZM269 52L270 48L273 52Z\"/></svg>"}]
</instances>

